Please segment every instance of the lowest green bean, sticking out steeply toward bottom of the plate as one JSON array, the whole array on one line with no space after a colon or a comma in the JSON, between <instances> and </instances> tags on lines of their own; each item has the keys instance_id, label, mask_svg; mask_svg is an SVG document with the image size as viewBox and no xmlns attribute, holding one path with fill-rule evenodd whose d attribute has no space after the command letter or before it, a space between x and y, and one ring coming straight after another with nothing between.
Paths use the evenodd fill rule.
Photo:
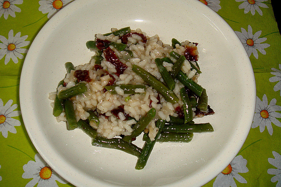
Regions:
<instances>
[{"instance_id":1,"label":"lowest green bean, sticking out steeply toward bottom of the plate","mask_svg":"<svg viewBox=\"0 0 281 187\"><path fill-rule=\"evenodd\" d=\"M143 150L141 151L140 157L138 157L138 161L136 163L136 167L135 169L143 169L147 163L148 157L165 125L166 121L165 120L157 120L156 122L156 127L159 128L157 134L155 135L155 139L153 141L151 141L149 138L147 139L147 141L145 142L144 146L143 146ZM150 142L150 143L148 143Z\"/></svg>"}]
</instances>

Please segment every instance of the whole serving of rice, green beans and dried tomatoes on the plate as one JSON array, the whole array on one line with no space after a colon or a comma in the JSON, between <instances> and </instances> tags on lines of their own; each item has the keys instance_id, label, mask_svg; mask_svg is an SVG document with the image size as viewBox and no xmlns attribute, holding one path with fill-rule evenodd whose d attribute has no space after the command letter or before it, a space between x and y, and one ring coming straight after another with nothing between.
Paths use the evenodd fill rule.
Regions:
<instances>
[{"instance_id":1,"label":"whole serving of rice, green beans and dried tomatoes on the plate","mask_svg":"<svg viewBox=\"0 0 281 187\"><path fill-rule=\"evenodd\" d=\"M112 28L86 42L89 63L74 67L49 94L53 115L68 130L79 128L93 146L138 157L143 169L156 141L189 142L193 133L212 132L194 118L212 115L206 89L198 84L198 43L172 39L163 44L140 29ZM143 148L134 145L143 134Z\"/></svg>"}]
</instances>

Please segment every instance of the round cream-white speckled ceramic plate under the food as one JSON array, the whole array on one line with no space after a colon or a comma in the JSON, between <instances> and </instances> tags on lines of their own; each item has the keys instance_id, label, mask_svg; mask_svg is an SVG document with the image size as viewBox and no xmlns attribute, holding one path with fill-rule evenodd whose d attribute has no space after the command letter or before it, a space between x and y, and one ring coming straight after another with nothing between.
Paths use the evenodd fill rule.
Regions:
<instances>
[{"instance_id":1,"label":"round cream-white speckled ceramic plate under the food","mask_svg":"<svg viewBox=\"0 0 281 187\"><path fill-rule=\"evenodd\" d=\"M65 62L88 63L85 43L112 27L141 28L198 42L199 83L216 114L213 133L194 134L190 143L156 143L145 169L137 158L91 146L79 129L67 131L52 116L48 93L64 77ZM32 42L20 77L20 107L31 141L44 160L76 186L202 186L235 157L251 127L256 92L248 56L231 27L196 0L76 0L50 19ZM141 144L139 145L141 146Z\"/></svg>"}]
</instances>

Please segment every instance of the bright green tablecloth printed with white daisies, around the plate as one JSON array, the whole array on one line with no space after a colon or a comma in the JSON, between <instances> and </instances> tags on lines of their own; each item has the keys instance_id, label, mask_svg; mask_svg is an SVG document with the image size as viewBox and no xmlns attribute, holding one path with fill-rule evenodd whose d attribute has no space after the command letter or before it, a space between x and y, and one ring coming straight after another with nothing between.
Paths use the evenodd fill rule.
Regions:
<instances>
[{"instance_id":1,"label":"bright green tablecloth printed with white daisies, around the plate","mask_svg":"<svg viewBox=\"0 0 281 187\"><path fill-rule=\"evenodd\" d=\"M257 88L256 113L243 147L204 187L281 186L281 37L271 2L200 1L239 36L250 57ZM73 186L46 167L32 145L18 94L20 71L31 42L69 2L0 0L0 186Z\"/></svg>"}]
</instances>

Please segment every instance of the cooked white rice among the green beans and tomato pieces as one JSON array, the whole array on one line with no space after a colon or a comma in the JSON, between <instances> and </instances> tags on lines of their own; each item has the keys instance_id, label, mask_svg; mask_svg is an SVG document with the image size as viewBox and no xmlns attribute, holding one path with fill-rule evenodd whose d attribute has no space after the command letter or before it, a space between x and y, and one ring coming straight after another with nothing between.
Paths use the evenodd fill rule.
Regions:
<instances>
[{"instance_id":1,"label":"cooked white rice among the green beans and tomato pieces","mask_svg":"<svg viewBox=\"0 0 281 187\"><path fill-rule=\"evenodd\" d=\"M117 29L112 29L112 32ZM138 32L141 34L146 34L140 29L131 32ZM102 34L97 34L97 38L102 40L109 40L117 43L121 43L120 37L113 34L109 36L103 36ZM147 37L147 42L144 44L141 40L142 38L137 34L132 34L128 37L128 49L133 52L133 57L131 57L126 51L119 52L113 46L110 48L115 52L115 54L120 58L120 61L128 66L123 74L117 77L114 73L116 72L115 66L104 60L101 61L101 66L107 70L110 74L114 76L116 81L114 84L144 84L146 89L136 89L137 94L131 95L128 99L128 94L124 94L124 90L120 87L115 87L117 94L111 94L109 91L104 92L104 86L106 86L112 79L109 75L104 75L103 69L95 70L95 60L84 65L79 65L75 70L88 70L89 77L91 81L85 82L88 90L78 96L72 97L73 107L75 110L75 115L77 121L79 119L86 120L89 116L88 110L97 110L98 113L104 114L100 115L100 124L97 126L95 123L90 123L90 125L97 129L100 136L105 138L113 138L114 136L120 135L130 135L132 132L131 125L135 123L135 120L125 120L126 117L122 112L119 112L118 117L115 117L111 110L118 108L120 105L124 105L124 112L136 120L139 120L143 115L148 112L152 107L156 110L155 118L147 126L149 130L149 137L151 140L154 139L158 128L155 127L155 121L157 119L163 119L169 121L169 115L177 116L175 113L175 108L181 106L183 103L179 100L176 104L171 104L160 95L160 104L158 103L158 93L151 86L148 86L136 73L131 69L131 64L136 64L143 69L150 72L152 75L163 81L156 64L154 63L155 58L170 57L169 52L175 51L179 54L183 54L185 51L184 46L176 45L176 49L173 49L170 45L163 44L158 35L153 37ZM185 41L182 45L195 46L195 44ZM196 51L198 54L198 51ZM103 54L102 54L103 56ZM103 56L104 57L104 56ZM171 58L174 60L174 58ZM175 61L175 60L174 60ZM172 64L164 62L163 65L167 70L171 70ZM190 70L191 66L186 60L181 68L183 72L188 75L189 79L193 79L197 82L198 75L195 75L195 70ZM76 77L74 77L74 72L66 74L64 82L67 83L66 87L59 86L57 91L74 86ZM176 80L176 87L174 93L180 99L179 90L184 87L179 81ZM49 99L54 100L56 92L49 94ZM152 103L150 103L152 101ZM53 103L51 104L53 106ZM194 112L193 112L194 113ZM64 112L60 116L56 117L57 121L66 121Z\"/></svg>"}]
</instances>

